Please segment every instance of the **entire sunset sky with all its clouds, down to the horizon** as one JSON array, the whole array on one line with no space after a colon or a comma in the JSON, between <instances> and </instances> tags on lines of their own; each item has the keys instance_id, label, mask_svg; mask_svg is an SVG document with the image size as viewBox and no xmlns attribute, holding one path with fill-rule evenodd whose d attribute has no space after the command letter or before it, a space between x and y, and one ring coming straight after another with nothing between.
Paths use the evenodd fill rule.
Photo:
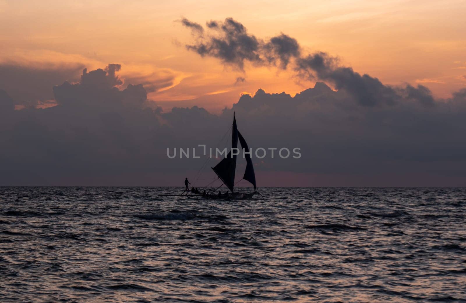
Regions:
<instances>
[{"instance_id":1,"label":"entire sunset sky with all its clouds, down to the horizon","mask_svg":"<svg viewBox=\"0 0 466 303\"><path fill-rule=\"evenodd\" d=\"M465 12L0 0L0 185L178 185L199 163L166 147L216 142L233 108L249 145L303 150L258 161L262 186L464 186Z\"/></svg>"}]
</instances>

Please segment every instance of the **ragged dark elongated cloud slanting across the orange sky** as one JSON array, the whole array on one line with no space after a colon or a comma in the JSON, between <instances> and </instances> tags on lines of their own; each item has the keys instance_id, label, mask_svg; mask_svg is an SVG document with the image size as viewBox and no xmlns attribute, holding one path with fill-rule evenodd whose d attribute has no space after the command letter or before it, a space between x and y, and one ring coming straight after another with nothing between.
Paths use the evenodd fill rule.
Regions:
<instances>
[{"instance_id":1,"label":"ragged dark elongated cloud slanting across the orange sky","mask_svg":"<svg viewBox=\"0 0 466 303\"><path fill-rule=\"evenodd\" d=\"M303 53L296 39L286 34L264 41L249 34L243 24L232 18L223 22L207 22L207 27L214 34L206 38L199 36L196 44L186 47L201 56L218 58L224 64L243 69L244 62L249 61L259 65L278 64L281 69L287 69L293 61L292 69L300 78L328 81L337 90L345 90L350 98L363 106L393 105L404 97L425 105L433 104L431 92L425 86L385 85L376 77L361 75L351 67L341 66L337 57L325 52Z\"/></svg>"}]
</instances>

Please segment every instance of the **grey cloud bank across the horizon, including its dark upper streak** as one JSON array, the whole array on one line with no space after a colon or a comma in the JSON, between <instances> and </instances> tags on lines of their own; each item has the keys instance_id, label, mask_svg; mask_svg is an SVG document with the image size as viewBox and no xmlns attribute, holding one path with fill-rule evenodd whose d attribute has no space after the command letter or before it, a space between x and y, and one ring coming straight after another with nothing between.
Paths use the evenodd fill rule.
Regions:
<instances>
[{"instance_id":1,"label":"grey cloud bank across the horizon, including its dark upper streak","mask_svg":"<svg viewBox=\"0 0 466 303\"><path fill-rule=\"evenodd\" d=\"M259 39L231 18L182 23L199 55L238 69L252 62L294 70L334 89L317 82L294 97L259 89L218 116L196 106L163 112L137 78L124 83L119 64L53 86L51 108L14 110L5 87L0 185L182 186L205 159L168 159L167 147L226 146L220 138L233 111L251 148L301 148L300 159L253 156L259 187L466 184L466 89L439 100L422 85L385 85L329 54L304 53L285 34ZM196 185L214 178L209 169L205 178Z\"/></svg>"}]
</instances>

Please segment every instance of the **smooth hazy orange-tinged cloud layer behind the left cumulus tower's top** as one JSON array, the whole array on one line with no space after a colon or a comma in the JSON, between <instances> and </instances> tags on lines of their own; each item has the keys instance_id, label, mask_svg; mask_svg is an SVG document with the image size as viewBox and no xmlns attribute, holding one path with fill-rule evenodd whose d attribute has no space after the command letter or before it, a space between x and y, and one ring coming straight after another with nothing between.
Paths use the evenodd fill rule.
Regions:
<instances>
[{"instance_id":1,"label":"smooth hazy orange-tinged cloud layer behind the left cumulus tower's top","mask_svg":"<svg viewBox=\"0 0 466 303\"><path fill-rule=\"evenodd\" d=\"M82 55L62 54L53 51L11 50L10 55L0 55L0 89L6 90L16 105L21 107L44 107L54 98L52 87L68 81L78 82L84 68L90 69L85 78L96 74L108 74L102 79L107 84L142 84L148 93L158 94L169 90L189 73L174 69L158 68L151 64L110 64L101 69L104 63ZM86 69L86 70L87 70ZM115 76L115 75L119 76ZM86 79L83 80L84 83ZM89 80L91 81L91 80Z\"/></svg>"}]
</instances>

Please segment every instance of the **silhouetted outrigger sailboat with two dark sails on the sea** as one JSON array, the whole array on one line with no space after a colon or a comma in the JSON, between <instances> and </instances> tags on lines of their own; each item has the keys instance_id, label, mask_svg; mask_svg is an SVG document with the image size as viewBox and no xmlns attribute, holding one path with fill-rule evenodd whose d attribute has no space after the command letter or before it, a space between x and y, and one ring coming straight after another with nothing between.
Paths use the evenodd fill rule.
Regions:
<instances>
[{"instance_id":1,"label":"silhouetted outrigger sailboat with two dark sails on the sea","mask_svg":"<svg viewBox=\"0 0 466 303\"><path fill-rule=\"evenodd\" d=\"M222 183L228 187L230 193L211 193L212 190L205 194L201 193L187 193L187 195L195 194L201 195L206 198L210 199L251 199L254 194L258 193L256 191L256 176L254 174L254 165L253 160L251 159L250 153L244 153L244 158L246 159L246 170L243 175L243 180L250 182L254 186L254 192L251 193L240 193L237 190L235 191L234 188L234 177L236 171L236 158L237 155L233 154L233 149L238 148L238 140L240 140L241 147L244 151L249 151L249 147L247 146L246 140L241 135L240 131L238 131L238 127L236 125L236 118L233 112L233 127L232 127L232 149L223 158L217 165L212 167L212 170L215 172L217 177L222 181Z\"/></svg>"}]
</instances>

